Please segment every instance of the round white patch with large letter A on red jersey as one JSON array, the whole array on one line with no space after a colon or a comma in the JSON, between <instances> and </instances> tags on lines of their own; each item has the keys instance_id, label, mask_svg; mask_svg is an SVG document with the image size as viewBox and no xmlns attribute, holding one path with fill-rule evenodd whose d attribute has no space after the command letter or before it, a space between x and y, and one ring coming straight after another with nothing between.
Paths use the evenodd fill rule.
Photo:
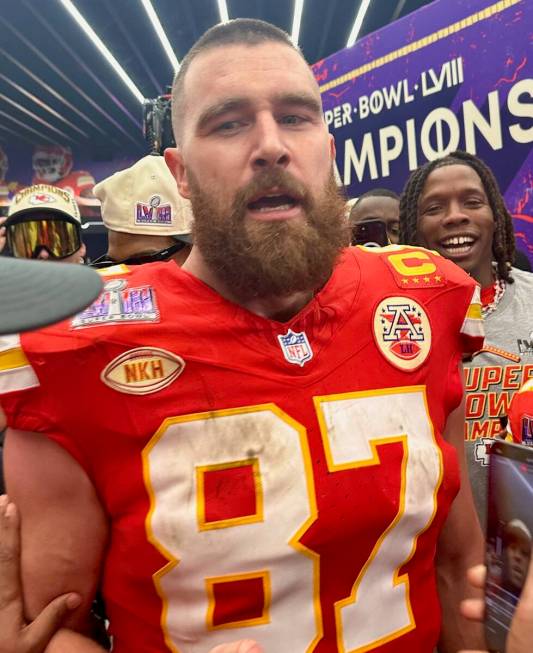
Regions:
<instances>
[{"instance_id":1,"label":"round white patch with large letter A on red jersey","mask_svg":"<svg viewBox=\"0 0 533 653\"><path fill-rule=\"evenodd\" d=\"M374 339L383 356L412 372L431 349L431 325L425 310L409 297L387 297L374 311Z\"/></svg>"}]
</instances>

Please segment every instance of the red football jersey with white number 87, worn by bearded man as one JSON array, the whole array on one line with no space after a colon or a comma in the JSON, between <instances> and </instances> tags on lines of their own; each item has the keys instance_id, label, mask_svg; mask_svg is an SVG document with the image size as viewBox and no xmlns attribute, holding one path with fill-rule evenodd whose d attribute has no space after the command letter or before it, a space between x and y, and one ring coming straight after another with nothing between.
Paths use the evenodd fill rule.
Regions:
<instances>
[{"instance_id":1,"label":"red football jersey with white number 87, worn by bearded man","mask_svg":"<svg viewBox=\"0 0 533 653\"><path fill-rule=\"evenodd\" d=\"M4 347L0 386L110 516L113 650L432 653L474 282L425 250L349 249L280 323L173 263L105 274L91 308Z\"/></svg>"}]
</instances>

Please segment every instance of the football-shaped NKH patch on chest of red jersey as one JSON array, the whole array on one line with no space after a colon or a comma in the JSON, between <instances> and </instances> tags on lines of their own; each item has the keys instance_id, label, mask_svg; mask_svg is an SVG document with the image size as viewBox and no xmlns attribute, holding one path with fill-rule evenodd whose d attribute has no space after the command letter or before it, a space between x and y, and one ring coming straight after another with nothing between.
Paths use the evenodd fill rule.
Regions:
<instances>
[{"instance_id":1,"label":"football-shaped NKH patch on chest of red jersey","mask_svg":"<svg viewBox=\"0 0 533 653\"><path fill-rule=\"evenodd\" d=\"M147 395L166 388L185 369L185 361L158 347L136 347L114 358L100 378L113 390Z\"/></svg>"}]
</instances>

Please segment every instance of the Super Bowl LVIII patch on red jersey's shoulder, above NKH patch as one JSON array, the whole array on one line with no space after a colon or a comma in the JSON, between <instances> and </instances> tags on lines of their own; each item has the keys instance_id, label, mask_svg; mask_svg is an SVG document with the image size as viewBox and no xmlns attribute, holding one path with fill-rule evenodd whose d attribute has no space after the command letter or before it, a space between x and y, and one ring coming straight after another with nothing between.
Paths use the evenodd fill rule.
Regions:
<instances>
[{"instance_id":1,"label":"Super Bowl LVIII patch on red jersey's shoulder, above NKH patch","mask_svg":"<svg viewBox=\"0 0 533 653\"><path fill-rule=\"evenodd\" d=\"M83 313L71 321L72 329L107 324L157 322L159 310L151 286L128 288L125 279L110 279L104 291Z\"/></svg>"}]
</instances>

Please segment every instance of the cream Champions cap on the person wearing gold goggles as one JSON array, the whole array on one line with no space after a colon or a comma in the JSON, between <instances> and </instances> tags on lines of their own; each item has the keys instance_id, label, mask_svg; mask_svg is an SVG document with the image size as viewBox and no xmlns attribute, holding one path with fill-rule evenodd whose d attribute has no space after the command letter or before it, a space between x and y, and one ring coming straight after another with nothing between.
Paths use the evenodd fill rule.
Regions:
<instances>
[{"instance_id":1,"label":"cream Champions cap on the person wearing gold goggles","mask_svg":"<svg viewBox=\"0 0 533 653\"><path fill-rule=\"evenodd\" d=\"M81 224L80 210L72 193L50 184L34 184L19 191L9 206L8 222L37 213L57 213Z\"/></svg>"}]
</instances>

